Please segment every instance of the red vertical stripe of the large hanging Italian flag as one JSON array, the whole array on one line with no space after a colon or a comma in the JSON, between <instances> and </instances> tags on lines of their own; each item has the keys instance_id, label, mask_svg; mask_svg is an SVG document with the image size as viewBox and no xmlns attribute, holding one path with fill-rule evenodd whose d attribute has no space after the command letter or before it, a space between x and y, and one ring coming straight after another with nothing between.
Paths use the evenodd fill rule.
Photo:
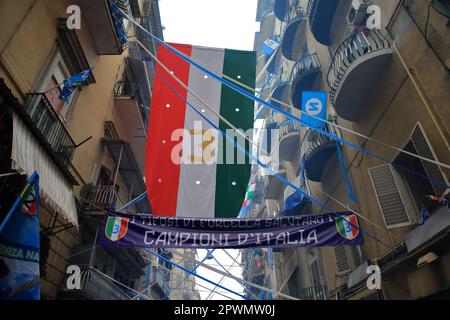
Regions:
<instances>
[{"instance_id":1,"label":"red vertical stripe of the large hanging Italian flag","mask_svg":"<svg viewBox=\"0 0 450 320\"><path fill-rule=\"evenodd\" d=\"M171 45L191 56L192 46ZM162 45L158 45L157 57L183 83L188 84L190 71L188 62L177 57ZM146 149L146 185L152 213L175 216L181 167L172 161L171 154L173 148L181 141L171 141L171 136L174 130L184 128L186 105L159 75L185 99L187 99L187 90L179 85L172 75L159 64L156 66ZM170 107L167 108L167 105Z\"/></svg>"}]
</instances>

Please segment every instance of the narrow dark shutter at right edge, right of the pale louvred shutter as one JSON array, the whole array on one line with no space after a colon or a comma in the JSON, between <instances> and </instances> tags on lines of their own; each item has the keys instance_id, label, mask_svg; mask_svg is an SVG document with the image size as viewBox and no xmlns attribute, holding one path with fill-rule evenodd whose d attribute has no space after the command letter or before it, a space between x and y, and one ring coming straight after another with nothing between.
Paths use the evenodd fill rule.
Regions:
<instances>
[{"instance_id":1,"label":"narrow dark shutter at right edge, right of the pale louvred shutter","mask_svg":"<svg viewBox=\"0 0 450 320\"><path fill-rule=\"evenodd\" d=\"M414 129L413 134L411 135L411 140L419 156L437 161L435 153L432 150L430 143L428 142L429 140L425 134L425 131L422 129L420 124L417 124L416 128ZM425 168L425 172L427 173L427 175L433 179L431 185L433 186L436 195L442 196L446 190L445 187L442 186L441 184L437 184L436 182L434 182L437 181L442 184L448 183L441 168L438 165L435 165L434 163L430 163L428 161L423 160L420 161L422 162L422 165Z\"/></svg>"}]
</instances>

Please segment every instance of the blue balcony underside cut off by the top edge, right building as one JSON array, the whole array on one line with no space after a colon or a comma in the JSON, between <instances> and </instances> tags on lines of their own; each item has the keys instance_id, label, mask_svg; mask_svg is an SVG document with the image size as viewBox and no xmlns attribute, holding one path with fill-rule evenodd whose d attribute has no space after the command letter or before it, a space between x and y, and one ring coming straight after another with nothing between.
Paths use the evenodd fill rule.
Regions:
<instances>
[{"instance_id":1,"label":"blue balcony underside cut off by the top edge, right building","mask_svg":"<svg viewBox=\"0 0 450 320\"><path fill-rule=\"evenodd\" d=\"M342 2L342 1L341 1ZM307 15L314 38L321 44L331 44L331 27L339 0L309 0Z\"/></svg>"}]
</instances>

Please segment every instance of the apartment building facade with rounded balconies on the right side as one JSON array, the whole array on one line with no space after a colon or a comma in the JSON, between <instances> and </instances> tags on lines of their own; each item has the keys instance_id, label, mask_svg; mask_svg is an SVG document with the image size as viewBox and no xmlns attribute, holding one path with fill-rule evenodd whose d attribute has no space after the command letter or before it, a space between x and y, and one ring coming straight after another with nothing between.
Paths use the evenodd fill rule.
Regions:
<instances>
[{"instance_id":1,"label":"apartment building facade with rounded balconies on the right side","mask_svg":"<svg viewBox=\"0 0 450 320\"><path fill-rule=\"evenodd\" d=\"M272 100L300 116L303 91L327 92L328 120L361 135L333 125L324 130L367 150L336 144L258 108L265 127L279 129L277 173L327 207L269 176L265 214L351 209L366 232L361 247L276 253L278 290L303 299L448 297L450 216L447 207L429 200L430 195L448 199L449 192L449 172L436 165L450 159L448 2L275 0L264 5L255 50L269 37L280 45L272 55L259 55L257 69L265 72L259 78L262 97L290 104L293 108ZM378 13L381 25L369 28L367 21ZM348 193L350 186L356 199ZM380 290L366 286L369 265L381 269Z\"/></svg>"}]
</instances>

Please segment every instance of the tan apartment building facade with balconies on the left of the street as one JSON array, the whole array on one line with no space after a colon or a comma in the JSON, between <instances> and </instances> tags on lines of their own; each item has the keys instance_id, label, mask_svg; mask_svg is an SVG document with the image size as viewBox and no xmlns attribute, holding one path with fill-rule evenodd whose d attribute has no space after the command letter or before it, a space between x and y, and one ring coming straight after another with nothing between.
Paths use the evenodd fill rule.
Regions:
<instances>
[{"instance_id":1,"label":"tan apartment building facade with balconies on the left of the street","mask_svg":"<svg viewBox=\"0 0 450 320\"><path fill-rule=\"evenodd\" d=\"M66 23L71 5L81 9L80 29ZM145 283L142 252L96 246L104 212L145 192L152 63L133 40L154 47L116 6L162 38L153 0L0 2L0 172L17 173L0 178L1 212L37 171L43 299L129 299ZM63 80L89 68L69 102L60 100ZM146 200L127 210L151 212ZM75 292L65 286L71 264L82 269Z\"/></svg>"}]
</instances>

